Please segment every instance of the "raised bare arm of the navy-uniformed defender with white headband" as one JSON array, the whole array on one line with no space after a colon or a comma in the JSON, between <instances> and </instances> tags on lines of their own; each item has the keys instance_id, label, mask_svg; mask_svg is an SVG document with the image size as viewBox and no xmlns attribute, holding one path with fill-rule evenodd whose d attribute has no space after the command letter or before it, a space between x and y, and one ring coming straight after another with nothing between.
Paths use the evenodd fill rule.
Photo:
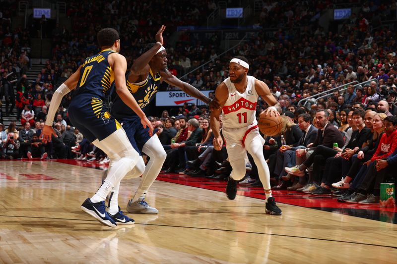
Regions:
<instances>
[{"instance_id":1,"label":"raised bare arm of the navy-uniformed defender with white headband","mask_svg":"<svg viewBox=\"0 0 397 264\"><path fill-rule=\"evenodd\" d=\"M157 51L163 46L163 32L165 30L165 26L162 25L161 28L157 31L156 34L156 44L147 52L140 55L135 61L132 63L131 66L131 75L133 76L140 76L140 75L147 75L149 73L149 61L152 57L157 53ZM132 80L132 82L135 80Z\"/></svg>"}]
</instances>

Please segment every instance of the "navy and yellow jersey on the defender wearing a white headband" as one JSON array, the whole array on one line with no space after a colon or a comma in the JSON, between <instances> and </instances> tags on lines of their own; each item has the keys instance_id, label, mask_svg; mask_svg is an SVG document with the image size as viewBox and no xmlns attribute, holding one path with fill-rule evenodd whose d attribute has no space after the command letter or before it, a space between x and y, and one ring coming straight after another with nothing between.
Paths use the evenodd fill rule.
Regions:
<instances>
[{"instance_id":1,"label":"navy and yellow jersey on the defender wearing a white headband","mask_svg":"<svg viewBox=\"0 0 397 264\"><path fill-rule=\"evenodd\" d=\"M128 77L130 72L126 74L127 79L127 88L135 98L139 107L142 111L145 110L145 107L154 99L155 94L157 93L158 87L160 85L160 74L153 74L150 69L150 73L148 74L146 80L139 83L130 83L128 81ZM115 99L113 100L112 105L112 115L116 119L135 119L137 117L136 113L126 104L123 103L121 98L116 94Z\"/></svg>"}]
</instances>

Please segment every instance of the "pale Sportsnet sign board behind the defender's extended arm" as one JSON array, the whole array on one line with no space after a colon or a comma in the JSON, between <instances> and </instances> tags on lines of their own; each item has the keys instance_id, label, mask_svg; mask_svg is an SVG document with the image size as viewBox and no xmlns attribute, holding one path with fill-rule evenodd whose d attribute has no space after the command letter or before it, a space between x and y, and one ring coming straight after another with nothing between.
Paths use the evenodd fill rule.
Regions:
<instances>
[{"instance_id":1,"label":"pale Sportsnet sign board behind the defender's extended arm","mask_svg":"<svg viewBox=\"0 0 397 264\"><path fill-rule=\"evenodd\" d=\"M205 96L208 96L213 91L200 91ZM156 106L183 106L183 104L196 104L198 106L205 105L199 99L196 99L182 91L167 91L156 93Z\"/></svg>"}]
</instances>

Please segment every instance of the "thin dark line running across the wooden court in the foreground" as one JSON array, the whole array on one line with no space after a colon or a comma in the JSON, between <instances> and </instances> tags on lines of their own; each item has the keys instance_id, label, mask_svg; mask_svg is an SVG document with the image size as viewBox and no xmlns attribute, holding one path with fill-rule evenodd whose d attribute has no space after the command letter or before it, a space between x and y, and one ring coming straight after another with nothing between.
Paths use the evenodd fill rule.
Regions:
<instances>
[{"instance_id":1,"label":"thin dark line running across the wooden court in the foreground","mask_svg":"<svg viewBox=\"0 0 397 264\"><path fill-rule=\"evenodd\" d=\"M90 219L39 217L39 216L17 216L17 215L2 215L2 214L0 214L0 217L21 217L21 218L38 218L38 219L97 222L97 220L90 220ZM368 244L368 243L355 242L355 241L333 240L333 239L317 238L317 237L304 237L304 236L293 236L293 235L272 234L272 233L262 233L262 232L252 232L252 231L240 231L240 230L230 230L230 229L218 229L218 228L207 228L207 227L182 226L182 225L149 224L149 223L137 223L137 222L135 222L135 224L137 224L137 225L163 226L163 227L189 228L189 229L199 229L199 230L224 231L224 232L246 233L246 234L257 234L257 235L269 235L269 236L281 236L281 237L302 238L302 239L313 239L313 240L321 240L321 241L329 241L329 242L339 242L339 243L347 243L347 244L355 244L355 245L365 245L365 246L375 246L375 247L384 247L384 248L397 249L397 247L394 247L394 246Z\"/></svg>"}]
</instances>

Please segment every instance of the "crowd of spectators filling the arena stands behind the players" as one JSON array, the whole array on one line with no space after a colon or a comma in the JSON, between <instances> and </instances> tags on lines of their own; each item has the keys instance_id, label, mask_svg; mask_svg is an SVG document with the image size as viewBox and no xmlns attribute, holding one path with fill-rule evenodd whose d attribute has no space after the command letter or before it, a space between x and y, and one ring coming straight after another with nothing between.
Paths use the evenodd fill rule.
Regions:
<instances>
[{"instance_id":1,"label":"crowd of spectators filling the arena stands behind the players","mask_svg":"<svg viewBox=\"0 0 397 264\"><path fill-rule=\"evenodd\" d=\"M52 143L40 142L41 125L51 104L54 89L78 68L85 57L98 51L95 36L99 29L114 27L121 33L121 53L131 65L145 45L153 41L154 33L161 24L167 26L164 36L167 41L177 26L200 25L202 17L206 17L216 8L216 3L212 0L189 3L184 1L184 4L178 1L165 5L163 3L162 0L68 2L66 14L71 20L73 30L58 24L44 28L44 36L52 39L52 57L45 61L34 81L29 81L26 76L31 61L29 40L34 34L29 28L12 27L14 29L11 30L15 4L11 4L7 10L4 9L0 18L0 96L5 102L5 112L1 111L0 114L1 117L2 114L7 116L16 107L16 119L21 121L22 127L18 129L15 122L7 129L0 125L2 157L43 158L48 153L50 158L77 157L108 162L105 155L84 139L78 130L73 131L67 116L67 106L72 94L64 98L58 109L54 120L57 136ZM351 117L348 117L349 114L361 117L362 112L356 111L358 108L367 109L368 112L384 112L387 115L397 114L397 36L393 24L382 24L385 20L396 20L396 2L358 1L355 5L359 7L358 12L353 12L339 28L331 27L326 30L319 26L318 19L321 10L330 6L331 1L264 1L262 11L255 18L256 22L264 28L278 29L258 29L248 35L241 45L222 56L218 55L222 50L216 34L213 38L197 39L194 38L194 32L186 31L181 34L175 47L167 46L166 42L169 70L178 77L209 61L203 67L190 72L184 79L199 90L214 90L228 77L227 68L231 57L244 55L248 58L249 74L268 85L284 114L282 133L286 142L281 142L281 137L276 136L267 138L264 146L270 171L278 172L272 175L272 182L280 188L287 187L292 182L294 185L288 187L296 187L295 190L307 187L307 183L319 183L317 187L327 190L330 187L330 180L321 182L323 178L318 168L316 180L309 177L307 181L294 181L286 171L273 169L280 168L280 162L283 164L280 153L284 154L284 151L280 150L280 146L295 148L302 145L299 143L303 143L302 135L307 132L307 127L301 124L312 124L313 127L318 126L321 129L317 121L312 121L319 110L327 109L320 113L327 115L330 124L343 132L340 133L343 138L340 147L349 144L351 135L348 130L358 129ZM103 15L98 15L99 13ZM362 84L356 85L358 83ZM340 89L328 97L316 98L316 95L335 87ZM160 90L173 89L175 88L164 85ZM213 93L210 93L210 97L213 97ZM298 104L300 100L309 97L311 99L304 106ZM260 99L257 113L266 107L265 102ZM206 107L185 104L174 109L173 116L164 112L160 117L150 118L158 129L157 134L168 154L164 165L168 172L215 178L228 176L231 167L225 161L225 150L217 152L212 147L213 135L208 126ZM363 119L367 118L364 116ZM381 121L385 120L383 117ZM386 122L395 123L393 119ZM369 130L370 123L365 123ZM3 131L8 134L2 133ZM371 130L373 132L374 129ZM380 135L378 138L380 139ZM356 147L361 149L363 145L353 149ZM340 148L340 153L349 149ZM247 177L243 183L261 186L255 163L249 155Z\"/></svg>"}]
</instances>

